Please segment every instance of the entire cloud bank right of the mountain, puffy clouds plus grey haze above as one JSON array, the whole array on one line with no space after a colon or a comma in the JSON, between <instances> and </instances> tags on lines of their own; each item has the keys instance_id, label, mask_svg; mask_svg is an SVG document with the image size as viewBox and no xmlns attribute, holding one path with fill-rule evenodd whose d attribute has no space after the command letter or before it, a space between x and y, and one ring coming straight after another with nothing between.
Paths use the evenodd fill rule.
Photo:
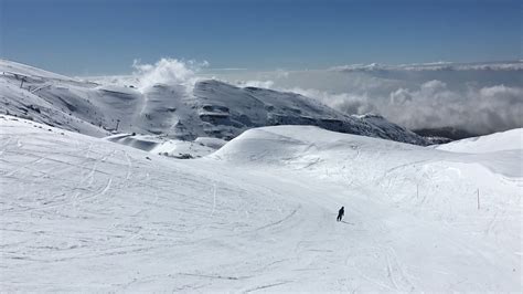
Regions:
<instances>
[{"instance_id":1,"label":"entire cloud bank right of the mountain, puffy clouds plus grey haze above","mask_svg":"<svg viewBox=\"0 0 523 294\"><path fill-rule=\"evenodd\" d=\"M523 127L523 62L344 65L225 76L296 92L345 114L377 113L410 129L488 134Z\"/></svg>"}]
</instances>

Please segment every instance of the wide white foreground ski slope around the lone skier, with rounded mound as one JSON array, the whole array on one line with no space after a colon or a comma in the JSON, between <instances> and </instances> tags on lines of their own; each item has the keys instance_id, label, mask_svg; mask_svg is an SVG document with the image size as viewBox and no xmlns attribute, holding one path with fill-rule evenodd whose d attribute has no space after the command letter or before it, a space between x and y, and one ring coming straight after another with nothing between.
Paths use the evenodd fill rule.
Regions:
<instances>
[{"instance_id":1,"label":"wide white foreground ski slope around the lone skier, with rounded mound","mask_svg":"<svg viewBox=\"0 0 523 294\"><path fill-rule=\"evenodd\" d=\"M0 129L2 292L522 288L521 148L279 126L180 160Z\"/></svg>"}]
</instances>

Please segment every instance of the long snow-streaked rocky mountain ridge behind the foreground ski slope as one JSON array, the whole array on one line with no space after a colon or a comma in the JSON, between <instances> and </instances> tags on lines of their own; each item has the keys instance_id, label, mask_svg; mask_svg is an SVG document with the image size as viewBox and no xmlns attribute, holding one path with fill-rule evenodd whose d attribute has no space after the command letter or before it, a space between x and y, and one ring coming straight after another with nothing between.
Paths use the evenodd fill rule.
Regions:
<instances>
[{"instance_id":1,"label":"long snow-streaked rocky mountain ridge behind the foreground ski slope","mask_svg":"<svg viewBox=\"0 0 523 294\"><path fill-rule=\"evenodd\" d=\"M232 139L273 125L325 129L428 145L424 137L377 115L348 116L296 93L237 87L220 81L154 84L81 81L0 60L0 112L104 137L113 130L194 140Z\"/></svg>"}]
</instances>

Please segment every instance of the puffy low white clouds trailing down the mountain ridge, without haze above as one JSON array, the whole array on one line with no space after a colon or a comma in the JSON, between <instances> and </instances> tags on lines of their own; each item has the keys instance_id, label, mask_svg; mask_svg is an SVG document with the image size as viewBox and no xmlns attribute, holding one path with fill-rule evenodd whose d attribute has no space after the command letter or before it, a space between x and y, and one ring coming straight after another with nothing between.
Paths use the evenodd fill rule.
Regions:
<instances>
[{"instance_id":1,"label":"puffy low white clouds trailing down the mountain ridge, without haze above","mask_svg":"<svg viewBox=\"0 0 523 294\"><path fill-rule=\"evenodd\" d=\"M270 87L274 82L248 84ZM468 85L465 91L458 91L433 80L416 87L398 87L384 96L301 87L276 90L316 98L345 114L377 113L410 129L452 126L485 134L523 127L523 87Z\"/></svg>"}]
</instances>

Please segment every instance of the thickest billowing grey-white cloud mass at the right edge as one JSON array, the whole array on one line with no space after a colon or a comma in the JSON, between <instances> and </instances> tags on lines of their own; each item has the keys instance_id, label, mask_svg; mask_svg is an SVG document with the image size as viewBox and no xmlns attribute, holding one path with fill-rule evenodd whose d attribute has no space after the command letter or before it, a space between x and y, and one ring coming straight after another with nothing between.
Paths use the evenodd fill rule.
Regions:
<instances>
[{"instance_id":1,"label":"thickest billowing grey-white cloud mass at the right edge","mask_svg":"<svg viewBox=\"0 0 523 294\"><path fill-rule=\"evenodd\" d=\"M440 81L419 88L398 88L388 103L376 103L377 112L409 128L461 127L491 133L522 127L523 88L495 85L459 92Z\"/></svg>"}]
</instances>

